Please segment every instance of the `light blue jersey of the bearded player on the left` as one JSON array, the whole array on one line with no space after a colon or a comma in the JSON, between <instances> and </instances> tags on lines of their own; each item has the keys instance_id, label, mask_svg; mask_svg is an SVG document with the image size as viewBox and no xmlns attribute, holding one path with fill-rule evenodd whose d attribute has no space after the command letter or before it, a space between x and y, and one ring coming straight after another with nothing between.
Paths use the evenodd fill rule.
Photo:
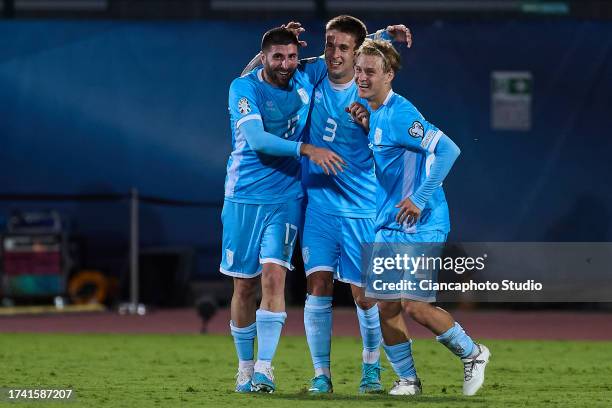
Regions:
<instances>
[{"instance_id":1,"label":"light blue jersey of the bearded player on the left","mask_svg":"<svg viewBox=\"0 0 612 408\"><path fill-rule=\"evenodd\" d=\"M298 69L289 86L281 89L267 83L259 68L232 82L229 91L232 153L227 162L226 200L276 204L303 196L299 158L255 152L240 126L249 120L260 120L266 132L300 141L308 119L313 83L322 75L316 67Z\"/></svg>"}]
</instances>

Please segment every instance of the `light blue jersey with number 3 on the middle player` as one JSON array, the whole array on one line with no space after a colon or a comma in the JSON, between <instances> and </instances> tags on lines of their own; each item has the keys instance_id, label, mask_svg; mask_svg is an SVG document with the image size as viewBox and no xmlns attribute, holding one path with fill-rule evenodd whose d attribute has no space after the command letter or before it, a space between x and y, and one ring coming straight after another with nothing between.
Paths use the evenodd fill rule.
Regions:
<instances>
[{"instance_id":1,"label":"light blue jersey with number 3 on the middle player","mask_svg":"<svg viewBox=\"0 0 612 408\"><path fill-rule=\"evenodd\" d=\"M314 64L322 65L319 58ZM337 85L323 78L314 90L308 143L325 147L348 163L344 172L327 176L309 160L303 161L302 181L308 194L308 207L329 215L373 218L376 215L376 175L367 134L345 111L353 102L366 102L357 96L354 81Z\"/></svg>"}]
</instances>

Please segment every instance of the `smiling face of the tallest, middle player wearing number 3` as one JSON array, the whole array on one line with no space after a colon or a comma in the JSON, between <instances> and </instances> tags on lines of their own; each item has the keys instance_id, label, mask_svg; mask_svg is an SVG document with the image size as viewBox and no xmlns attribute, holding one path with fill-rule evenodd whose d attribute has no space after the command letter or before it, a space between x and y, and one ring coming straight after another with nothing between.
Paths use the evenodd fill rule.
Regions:
<instances>
[{"instance_id":1,"label":"smiling face of the tallest, middle player wearing number 3","mask_svg":"<svg viewBox=\"0 0 612 408\"><path fill-rule=\"evenodd\" d=\"M346 83L353 78L356 46L353 35L333 29L327 30L325 63L332 82Z\"/></svg>"}]
</instances>

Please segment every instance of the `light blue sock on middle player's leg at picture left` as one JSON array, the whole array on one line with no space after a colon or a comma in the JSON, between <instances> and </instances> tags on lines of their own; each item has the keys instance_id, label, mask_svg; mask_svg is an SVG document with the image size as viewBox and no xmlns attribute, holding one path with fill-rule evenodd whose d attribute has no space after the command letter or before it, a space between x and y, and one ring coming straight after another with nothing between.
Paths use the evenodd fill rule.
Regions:
<instances>
[{"instance_id":1,"label":"light blue sock on middle player's leg at picture left","mask_svg":"<svg viewBox=\"0 0 612 408\"><path fill-rule=\"evenodd\" d=\"M332 297L306 296L304 305L304 329L310 348L312 364L317 368L330 367Z\"/></svg>"}]
</instances>

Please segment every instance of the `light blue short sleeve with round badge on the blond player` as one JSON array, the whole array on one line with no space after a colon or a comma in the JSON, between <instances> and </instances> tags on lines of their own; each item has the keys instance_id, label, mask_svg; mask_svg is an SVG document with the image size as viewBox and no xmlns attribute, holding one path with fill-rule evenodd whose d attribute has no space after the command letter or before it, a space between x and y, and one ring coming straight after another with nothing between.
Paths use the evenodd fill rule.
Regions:
<instances>
[{"instance_id":1,"label":"light blue short sleeve with round badge on the blond player","mask_svg":"<svg viewBox=\"0 0 612 408\"><path fill-rule=\"evenodd\" d=\"M433 153L444 133L414 107L396 109L391 120L391 140L406 149Z\"/></svg>"}]
</instances>

